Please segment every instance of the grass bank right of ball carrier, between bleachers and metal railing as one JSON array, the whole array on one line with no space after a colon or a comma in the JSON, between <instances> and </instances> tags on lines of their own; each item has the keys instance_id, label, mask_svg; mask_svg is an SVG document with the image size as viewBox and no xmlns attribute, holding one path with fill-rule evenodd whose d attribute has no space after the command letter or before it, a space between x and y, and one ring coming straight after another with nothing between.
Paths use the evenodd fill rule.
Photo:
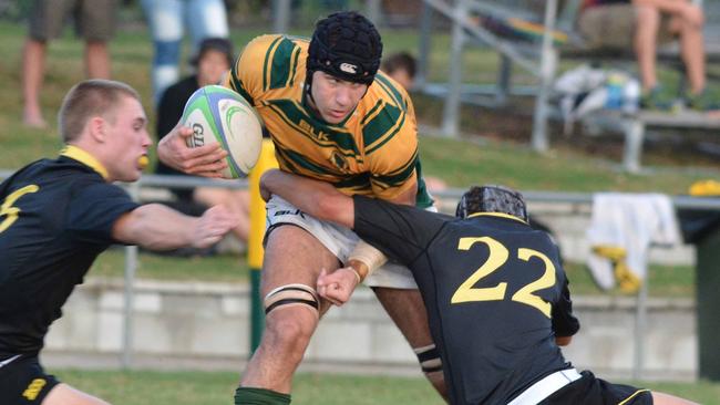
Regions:
<instances>
[{"instance_id":1,"label":"grass bank right of ball carrier, between bleachers and metal railing","mask_svg":"<svg viewBox=\"0 0 720 405\"><path fill-rule=\"evenodd\" d=\"M594 193L656 191L686 194L696 180L708 178L704 170L677 170L661 176L618 172L605 160L573 150L538 155L526 146L493 139L420 141L423 173L445 179L451 186L504 184L521 190ZM716 177L720 176L720 173Z\"/></svg>"}]
</instances>

